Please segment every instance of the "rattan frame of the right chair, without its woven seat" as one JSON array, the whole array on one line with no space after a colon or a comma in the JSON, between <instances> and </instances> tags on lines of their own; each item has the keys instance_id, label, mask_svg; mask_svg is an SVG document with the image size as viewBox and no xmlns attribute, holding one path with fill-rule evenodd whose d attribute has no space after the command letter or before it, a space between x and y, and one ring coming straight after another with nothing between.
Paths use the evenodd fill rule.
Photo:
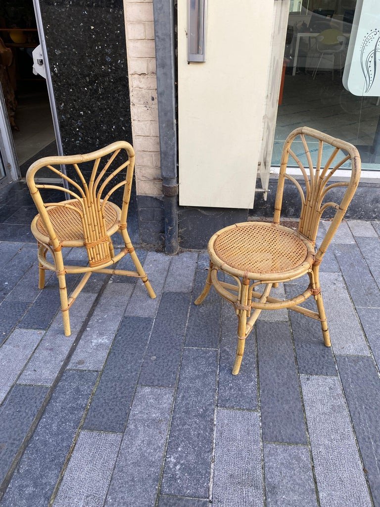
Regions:
<instances>
[{"instance_id":1,"label":"rattan frame of the right chair, without its woven seat","mask_svg":"<svg viewBox=\"0 0 380 507\"><path fill-rule=\"evenodd\" d=\"M311 153L305 136L318 140L318 153L315 165L313 165ZM308 169L301 163L300 157L298 157L291 149L292 143L297 137L299 137L302 142L304 154L306 155L308 161ZM324 144L334 147L334 150L325 166L322 167L321 162ZM347 152L347 155L345 155L337 163L333 164L340 151ZM303 176L303 179L305 180L306 192L302 190L298 180L286 172L289 156L294 159L300 169L300 175ZM351 161L351 177L349 181L331 183L330 179L335 174L336 170L348 161ZM203 292L195 301L195 304L201 304L209 293L211 286L214 286L216 292L234 306L236 315L238 316L238 346L232 371L233 375L237 375L240 371L244 354L245 340L252 331L254 323L262 310L288 308L319 320L321 323L324 344L327 347L331 345L319 280L319 269L323 256L325 255L339 224L343 220L347 208L358 187L360 171L361 161L359 152L352 144L309 127L297 128L289 134L284 143L276 193L274 218L270 226L275 228L276 231L284 231L290 239L293 235L294 240L302 241L302 243L305 244L305 258L300 259L299 264L293 269L269 273L262 271L251 272L243 269L237 269L236 267L229 265L225 259L223 260L221 258L223 256L220 255L220 252L215 251L215 242L228 231L244 227L253 228L252 230L254 230L254 228L257 227L255 224L260 223L244 222L235 224L221 229L210 238L208 243L210 269ZM296 186L301 199L301 213L297 231L293 231L292 229L280 225L285 179L289 179ZM341 201L339 203L332 201L325 202L326 194L331 189L337 187L346 187L346 191ZM327 233L325 234L319 248L316 250L316 237L320 219L324 211L329 207L334 208L336 211ZM261 241L262 238L258 237L257 240ZM231 248L239 250L239 247L239 244L235 244L232 245ZM268 245L268 249L268 251L271 250L271 245ZM219 271L232 276L236 281L236 284L219 280ZM306 290L298 296L288 300L279 300L270 296L272 287L277 287L279 283L294 280L304 274L309 276L309 285ZM257 286L261 284L265 285L262 293L257 291ZM312 311L299 306L311 296L313 296L316 301L317 311Z\"/></svg>"}]
</instances>

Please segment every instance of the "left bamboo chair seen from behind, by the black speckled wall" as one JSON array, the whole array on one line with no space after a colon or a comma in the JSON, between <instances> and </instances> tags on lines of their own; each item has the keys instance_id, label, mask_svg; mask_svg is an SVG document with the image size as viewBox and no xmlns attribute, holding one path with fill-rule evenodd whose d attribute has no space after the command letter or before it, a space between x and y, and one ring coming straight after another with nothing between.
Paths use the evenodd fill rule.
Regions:
<instances>
[{"instance_id":1,"label":"left bamboo chair seen from behind, by the black speckled wall","mask_svg":"<svg viewBox=\"0 0 380 507\"><path fill-rule=\"evenodd\" d=\"M88 162L93 162L93 164L91 164L91 176L86 182L79 165L86 165ZM26 183L39 212L31 223L31 231L38 245L39 288L45 286L45 270L55 271L59 281L65 336L71 334L69 308L92 273L139 277L144 282L148 295L151 298L156 297L127 232L127 213L134 162L135 153L131 144L118 141L86 155L46 157L37 160L26 173ZM72 165L81 184L63 174L59 168L54 167L61 164ZM60 176L69 184L69 188L59 185L36 184L34 176L44 167ZM113 178L125 168L127 168L126 176L114 185ZM123 204L120 208L110 202L109 198L123 186ZM65 194L69 194L72 199L44 203L40 189L62 191L63 199ZM117 231L120 231L125 244L119 253L115 253L111 239L112 234ZM88 266L69 266L64 263L62 248L77 246L86 248ZM46 259L48 251L51 253L53 262ZM131 256L136 271L108 269L108 266L117 263L127 253ZM66 273L84 273L70 297L67 297Z\"/></svg>"}]
</instances>

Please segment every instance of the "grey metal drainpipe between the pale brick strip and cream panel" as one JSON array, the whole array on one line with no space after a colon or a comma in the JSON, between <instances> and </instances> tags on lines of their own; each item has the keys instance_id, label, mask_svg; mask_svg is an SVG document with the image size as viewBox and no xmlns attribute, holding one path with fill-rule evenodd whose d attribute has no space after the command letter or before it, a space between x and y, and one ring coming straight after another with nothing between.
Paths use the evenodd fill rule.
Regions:
<instances>
[{"instance_id":1,"label":"grey metal drainpipe between the pale brick strip and cream panel","mask_svg":"<svg viewBox=\"0 0 380 507\"><path fill-rule=\"evenodd\" d=\"M175 121L174 1L153 0L165 251L178 251L178 173Z\"/></svg>"}]
</instances>

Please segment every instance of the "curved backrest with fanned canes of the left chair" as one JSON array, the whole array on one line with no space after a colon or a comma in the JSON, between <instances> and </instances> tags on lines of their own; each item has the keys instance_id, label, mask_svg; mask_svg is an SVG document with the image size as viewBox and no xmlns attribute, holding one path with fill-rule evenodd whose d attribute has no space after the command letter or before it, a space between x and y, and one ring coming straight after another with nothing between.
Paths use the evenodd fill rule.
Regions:
<instances>
[{"instance_id":1,"label":"curved backrest with fanned canes of the left chair","mask_svg":"<svg viewBox=\"0 0 380 507\"><path fill-rule=\"evenodd\" d=\"M79 166L92 161L94 163L90 171L90 178L86 181L84 172ZM101 150L85 155L46 157L37 160L29 167L26 173L26 183L40 213L53 249L59 248L60 243L54 232L46 206L48 205L50 208L51 206L58 205L58 203L48 203L45 205L40 189L62 191L62 201L65 199L65 194L69 194L73 198L73 200L65 203L64 206L80 215L90 265L100 265L111 259L109 238L106 235L104 220L104 206L109 197L117 189L124 186L120 227L121 229L126 228L134 162L135 153L131 144L126 141L118 141L109 144L109 146ZM77 181L63 174L60 168L54 167L56 165L73 166L77 174ZM34 180L35 174L44 167L65 180L68 188L59 185L37 184ZM125 178L109 189L111 180L126 167L127 173ZM107 192L106 194L105 191ZM60 205L62 206L62 204Z\"/></svg>"}]
</instances>

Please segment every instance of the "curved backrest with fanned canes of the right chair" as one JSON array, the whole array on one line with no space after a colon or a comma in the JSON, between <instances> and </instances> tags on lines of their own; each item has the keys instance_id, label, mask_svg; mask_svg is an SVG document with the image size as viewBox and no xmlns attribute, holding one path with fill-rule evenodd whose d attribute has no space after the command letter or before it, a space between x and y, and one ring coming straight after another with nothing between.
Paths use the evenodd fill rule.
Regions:
<instances>
[{"instance_id":1,"label":"curved backrest with fanned canes of the right chair","mask_svg":"<svg viewBox=\"0 0 380 507\"><path fill-rule=\"evenodd\" d=\"M309 148L305 136L311 138L313 149ZM296 141L297 144L296 147L292 148L294 141ZM315 146L316 144L318 148ZM328 147L326 156L324 154L325 147ZM289 155L294 159L301 171L303 179L305 179L305 192L299 182L286 172ZM338 158L337 162L335 161L336 158ZM344 164L345 169L351 168L351 177L349 181L328 184L336 170ZM351 167L346 167L347 164ZM307 166L308 169L305 166ZM298 232L314 244L317 237L319 221L324 211L329 207L336 210L329 230L316 253L316 261L321 261L347 211L359 185L360 170L361 161L359 152L349 142L335 139L330 135L309 127L300 127L293 130L285 140L276 194L274 223L278 224L280 222L285 178L294 183L301 198L301 214ZM330 190L336 189L337 187L346 187L346 191L340 202L328 201L326 195Z\"/></svg>"}]
</instances>

